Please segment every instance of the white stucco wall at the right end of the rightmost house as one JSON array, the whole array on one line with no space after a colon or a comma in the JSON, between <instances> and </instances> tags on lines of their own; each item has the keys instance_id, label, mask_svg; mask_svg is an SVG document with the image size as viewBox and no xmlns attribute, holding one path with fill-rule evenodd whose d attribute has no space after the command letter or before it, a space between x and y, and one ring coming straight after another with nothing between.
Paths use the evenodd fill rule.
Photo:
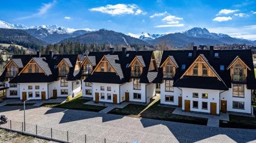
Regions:
<instances>
[{"instance_id":1,"label":"white stucco wall at the right end of the rightmost house","mask_svg":"<svg viewBox=\"0 0 256 143\"><path fill-rule=\"evenodd\" d=\"M221 93L220 100L227 101L227 111L251 113L251 90L248 90L246 88L246 85L244 86L244 98L233 97L233 84L232 88L230 88L228 91ZM233 101L244 102L244 109L233 108Z\"/></svg>"}]
</instances>

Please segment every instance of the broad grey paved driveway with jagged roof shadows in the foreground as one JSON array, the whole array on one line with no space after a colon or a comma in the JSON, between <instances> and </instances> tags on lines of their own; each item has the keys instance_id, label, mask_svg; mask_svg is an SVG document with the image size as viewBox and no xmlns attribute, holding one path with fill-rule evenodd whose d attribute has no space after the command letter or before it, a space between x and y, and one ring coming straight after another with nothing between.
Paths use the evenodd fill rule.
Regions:
<instances>
[{"instance_id":1,"label":"broad grey paved driveway with jagged roof shadows in the foreground","mask_svg":"<svg viewBox=\"0 0 256 143\"><path fill-rule=\"evenodd\" d=\"M6 115L13 121L23 122L23 110L20 106L0 107L0 115ZM26 110L27 130L44 130L53 136L67 135L75 142L256 142L256 130L229 129L138 119L99 112L28 106Z\"/></svg>"}]
</instances>

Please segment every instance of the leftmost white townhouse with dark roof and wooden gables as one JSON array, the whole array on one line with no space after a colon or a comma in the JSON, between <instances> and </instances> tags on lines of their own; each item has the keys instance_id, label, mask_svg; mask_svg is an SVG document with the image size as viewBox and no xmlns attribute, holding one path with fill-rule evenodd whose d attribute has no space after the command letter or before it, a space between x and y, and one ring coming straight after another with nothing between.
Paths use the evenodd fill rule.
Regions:
<instances>
[{"instance_id":1,"label":"leftmost white townhouse with dark roof and wooden gables","mask_svg":"<svg viewBox=\"0 0 256 143\"><path fill-rule=\"evenodd\" d=\"M4 68L0 82L7 98L47 100L81 92L77 54L13 55Z\"/></svg>"}]
</instances>

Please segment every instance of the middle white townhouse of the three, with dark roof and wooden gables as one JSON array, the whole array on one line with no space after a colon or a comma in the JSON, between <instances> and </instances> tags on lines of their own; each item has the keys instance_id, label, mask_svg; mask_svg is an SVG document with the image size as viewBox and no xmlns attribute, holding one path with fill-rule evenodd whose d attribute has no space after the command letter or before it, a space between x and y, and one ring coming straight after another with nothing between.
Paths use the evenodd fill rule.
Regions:
<instances>
[{"instance_id":1,"label":"middle white townhouse of the three, with dark roof and wooden gables","mask_svg":"<svg viewBox=\"0 0 256 143\"><path fill-rule=\"evenodd\" d=\"M82 62L82 96L96 103L149 103L156 95L153 51L90 52Z\"/></svg>"}]
</instances>

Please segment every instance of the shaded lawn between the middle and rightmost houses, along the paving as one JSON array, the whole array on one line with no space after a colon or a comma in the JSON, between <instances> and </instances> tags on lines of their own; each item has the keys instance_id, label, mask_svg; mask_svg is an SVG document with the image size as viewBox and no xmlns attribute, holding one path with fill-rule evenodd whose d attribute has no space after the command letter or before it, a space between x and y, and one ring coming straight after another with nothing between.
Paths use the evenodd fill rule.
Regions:
<instances>
[{"instance_id":1,"label":"shaded lawn between the middle and rightmost houses, along the paving","mask_svg":"<svg viewBox=\"0 0 256 143\"><path fill-rule=\"evenodd\" d=\"M158 106L159 103L160 100L156 99L149 105L129 104L122 109L115 108L109 113L135 118L148 118L188 124L207 125L207 119L174 115L172 112L175 110L175 108Z\"/></svg>"}]
</instances>

